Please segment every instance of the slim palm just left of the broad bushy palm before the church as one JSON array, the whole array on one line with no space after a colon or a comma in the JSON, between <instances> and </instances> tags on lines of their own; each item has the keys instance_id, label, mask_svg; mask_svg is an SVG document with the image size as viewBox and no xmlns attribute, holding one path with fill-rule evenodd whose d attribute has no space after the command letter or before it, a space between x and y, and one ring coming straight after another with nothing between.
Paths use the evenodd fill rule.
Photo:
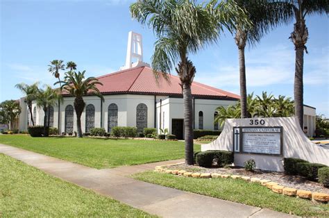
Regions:
<instances>
[{"instance_id":1,"label":"slim palm just left of the broad bushy palm before the church","mask_svg":"<svg viewBox=\"0 0 329 218\"><path fill-rule=\"evenodd\" d=\"M44 136L48 136L49 133L49 118L51 106L56 106L58 100L61 99L61 95L58 90L53 90L49 85L46 86L45 90L40 89L37 93L36 101L37 106L42 108L44 111ZM48 117L48 121L47 121Z\"/></svg>"}]
</instances>

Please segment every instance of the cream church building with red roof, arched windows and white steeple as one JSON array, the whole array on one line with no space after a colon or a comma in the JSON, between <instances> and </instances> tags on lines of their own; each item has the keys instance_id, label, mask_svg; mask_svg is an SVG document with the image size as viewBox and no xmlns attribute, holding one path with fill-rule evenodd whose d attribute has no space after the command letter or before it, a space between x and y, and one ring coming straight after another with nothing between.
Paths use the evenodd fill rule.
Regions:
<instances>
[{"instance_id":1,"label":"cream church building with red roof, arched windows and white steeple","mask_svg":"<svg viewBox=\"0 0 329 218\"><path fill-rule=\"evenodd\" d=\"M135 62L132 62L136 59ZM81 115L83 133L91 128L105 128L108 133L114 126L135 126L137 132L143 128L168 128L169 134L178 139L184 138L183 94L178 76L169 75L156 80L151 67L143 62L142 35L129 32L126 65L118 72L98 77L103 83L99 90L105 101L96 96L85 96L85 110ZM194 129L218 130L214 124L216 108L235 105L237 94L211 87L202 83L192 83ZM26 131L31 124L30 113L24 97L20 99L22 113L19 117L19 130ZM58 116L59 115L59 116ZM44 112L33 103L35 125L43 125ZM50 126L59 133L76 131L74 97L63 96L60 106L50 110Z\"/></svg>"}]
</instances>

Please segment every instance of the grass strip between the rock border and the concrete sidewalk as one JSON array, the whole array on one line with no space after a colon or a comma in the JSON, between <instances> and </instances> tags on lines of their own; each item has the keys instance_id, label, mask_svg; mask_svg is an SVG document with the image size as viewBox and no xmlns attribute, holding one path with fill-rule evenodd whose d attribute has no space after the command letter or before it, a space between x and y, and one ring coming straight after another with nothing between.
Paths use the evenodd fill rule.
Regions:
<instances>
[{"instance_id":1,"label":"grass strip between the rock border and the concrete sidewalk","mask_svg":"<svg viewBox=\"0 0 329 218\"><path fill-rule=\"evenodd\" d=\"M250 206L269 208L280 212L292 212L294 215L307 217L328 217L329 205L314 203L305 199L276 194L259 184L247 183L232 178L185 178L171 174L162 174L154 171L135 174L133 178L155 183L178 190L194 192L218 199L235 201Z\"/></svg>"}]
</instances>

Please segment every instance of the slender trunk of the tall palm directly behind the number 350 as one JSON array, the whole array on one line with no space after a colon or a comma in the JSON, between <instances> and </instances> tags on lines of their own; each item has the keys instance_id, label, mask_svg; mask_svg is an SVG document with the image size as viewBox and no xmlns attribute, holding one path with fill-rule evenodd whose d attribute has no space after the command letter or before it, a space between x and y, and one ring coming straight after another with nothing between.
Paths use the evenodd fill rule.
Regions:
<instances>
[{"instance_id":1,"label":"slender trunk of the tall palm directly behind the number 350","mask_svg":"<svg viewBox=\"0 0 329 218\"><path fill-rule=\"evenodd\" d=\"M246 103L246 63L244 60L244 47L239 48L239 75L240 75L240 104L241 118L247 118L247 103Z\"/></svg>"}]
</instances>

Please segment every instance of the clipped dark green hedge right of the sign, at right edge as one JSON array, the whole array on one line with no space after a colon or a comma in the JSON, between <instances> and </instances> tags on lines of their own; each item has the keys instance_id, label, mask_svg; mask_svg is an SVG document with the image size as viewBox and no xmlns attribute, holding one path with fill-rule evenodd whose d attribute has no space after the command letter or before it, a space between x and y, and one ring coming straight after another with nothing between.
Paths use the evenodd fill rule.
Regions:
<instances>
[{"instance_id":1,"label":"clipped dark green hedge right of the sign, at right edge","mask_svg":"<svg viewBox=\"0 0 329 218\"><path fill-rule=\"evenodd\" d=\"M320 170L322 168L325 169ZM327 167L326 165L307 162L306 160L301 160L298 158L284 158L285 174L303 176L310 181L317 181L319 178L319 181L324 185L326 181L329 180L328 168L329 167ZM319 171L321 175L319 175Z\"/></svg>"}]
</instances>

